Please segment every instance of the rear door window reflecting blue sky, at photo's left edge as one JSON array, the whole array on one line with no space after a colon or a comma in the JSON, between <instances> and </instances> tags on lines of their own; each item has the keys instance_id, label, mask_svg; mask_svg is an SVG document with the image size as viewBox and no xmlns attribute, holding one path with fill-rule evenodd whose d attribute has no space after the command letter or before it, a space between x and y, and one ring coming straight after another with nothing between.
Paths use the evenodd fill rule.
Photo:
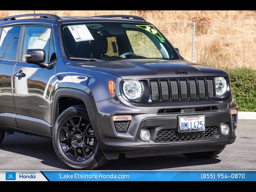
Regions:
<instances>
[{"instance_id":1,"label":"rear door window reflecting blue sky, at photo's left edge","mask_svg":"<svg viewBox=\"0 0 256 192\"><path fill-rule=\"evenodd\" d=\"M0 37L0 58L16 60L21 26L2 29Z\"/></svg>"}]
</instances>

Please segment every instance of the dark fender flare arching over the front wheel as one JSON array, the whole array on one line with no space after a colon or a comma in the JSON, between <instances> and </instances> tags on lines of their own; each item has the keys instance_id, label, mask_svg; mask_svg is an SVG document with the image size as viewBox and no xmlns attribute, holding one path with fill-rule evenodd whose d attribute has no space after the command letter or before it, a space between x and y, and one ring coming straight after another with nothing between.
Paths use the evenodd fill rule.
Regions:
<instances>
[{"instance_id":1,"label":"dark fender flare arching over the front wheel","mask_svg":"<svg viewBox=\"0 0 256 192\"><path fill-rule=\"evenodd\" d=\"M95 119L95 114L92 108L92 102L91 102L91 96L89 96L87 94L87 92L82 91L82 90L78 90L78 89L74 89L74 88L58 88L55 93L54 93L54 97L53 97L53 101L52 101L52 130L54 127L54 124L57 120L57 115L58 115L58 101L61 97L71 97L71 98L76 98L79 100L82 100L82 102L84 102L87 112L88 112L88 116L90 119ZM93 98L92 98L93 99Z\"/></svg>"}]
</instances>

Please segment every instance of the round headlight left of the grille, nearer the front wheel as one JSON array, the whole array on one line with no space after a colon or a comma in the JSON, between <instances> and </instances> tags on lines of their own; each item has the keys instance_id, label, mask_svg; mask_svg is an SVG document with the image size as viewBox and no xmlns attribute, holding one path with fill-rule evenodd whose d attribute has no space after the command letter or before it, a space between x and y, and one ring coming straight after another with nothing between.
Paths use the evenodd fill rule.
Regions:
<instances>
[{"instance_id":1,"label":"round headlight left of the grille, nearer the front wheel","mask_svg":"<svg viewBox=\"0 0 256 192\"><path fill-rule=\"evenodd\" d=\"M128 99L136 99L142 93L141 83L137 80L127 80L124 82L123 91Z\"/></svg>"}]
</instances>

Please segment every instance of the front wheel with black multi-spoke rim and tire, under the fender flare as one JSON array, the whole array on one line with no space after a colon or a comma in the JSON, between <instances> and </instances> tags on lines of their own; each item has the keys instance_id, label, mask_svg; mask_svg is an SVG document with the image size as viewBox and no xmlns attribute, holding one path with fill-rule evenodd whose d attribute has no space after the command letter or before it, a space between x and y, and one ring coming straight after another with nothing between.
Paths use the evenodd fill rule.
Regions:
<instances>
[{"instance_id":1,"label":"front wheel with black multi-spoke rim and tire, under the fender flare","mask_svg":"<svg viewBox=\"0 0 256 192\"><path fill-rule=\"evenodd\" d=\"M52 141L56 155L69 168L92 170L107 161L83 105L72 106L60 114Z\"/></svg>"}]
</instances>

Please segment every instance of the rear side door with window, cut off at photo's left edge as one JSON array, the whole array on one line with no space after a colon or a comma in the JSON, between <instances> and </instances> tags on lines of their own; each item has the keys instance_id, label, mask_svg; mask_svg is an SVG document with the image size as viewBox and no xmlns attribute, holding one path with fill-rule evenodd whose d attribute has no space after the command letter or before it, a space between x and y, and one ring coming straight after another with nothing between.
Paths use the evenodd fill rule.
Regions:
<instances>
[{"instance_id":1,"label":"rear side door with window, cut off at photo's left edge","mask_svg":"<svg viewBox=\"0 0 256 192\"><path fill-rule=\"evenodd\" d=\"M0 28L0 124L13 127L16 127L16 110L12 81L14 65L18 60L21 28L21 26ZM8 117L7 121L6 116Z\"/></svg>"}]
</instances>

